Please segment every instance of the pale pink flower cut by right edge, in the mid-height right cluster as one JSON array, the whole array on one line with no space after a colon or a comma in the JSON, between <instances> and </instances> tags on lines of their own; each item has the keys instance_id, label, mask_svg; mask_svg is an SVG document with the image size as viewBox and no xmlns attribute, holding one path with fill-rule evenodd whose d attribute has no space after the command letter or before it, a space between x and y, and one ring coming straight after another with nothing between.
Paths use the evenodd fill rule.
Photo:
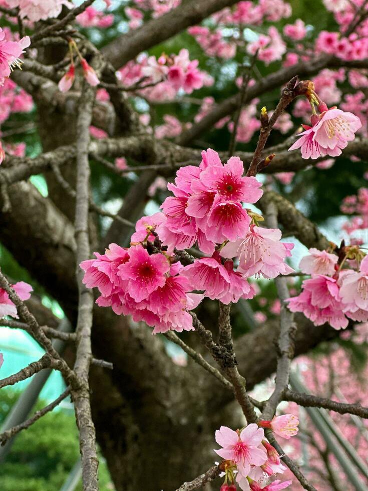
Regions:
<instances>
[{"instance_id":1,"label":"pale pink flower cut by right edge, in the mid-height right cluster","mask_svg":"<svg viewBox=\"0 0 368 491\"><path fill-rule=\"evenodd\" d=\"M368 310L368 256L362 260L359 273L350 270L343 275L340 297L349 311Z\"/></svg>"}]
</instances>

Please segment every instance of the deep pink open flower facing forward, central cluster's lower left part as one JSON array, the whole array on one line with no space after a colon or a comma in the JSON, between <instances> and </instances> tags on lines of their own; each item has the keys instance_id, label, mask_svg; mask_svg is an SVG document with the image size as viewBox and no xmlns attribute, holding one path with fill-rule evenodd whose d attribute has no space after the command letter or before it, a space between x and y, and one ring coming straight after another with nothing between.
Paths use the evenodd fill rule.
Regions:
<instances>
[{"instance_id":1,"label":"deep pink open flower facing forward, central cluster's lower left part","mask_svg":"<svg viewBox=\"0 0 368 491\"><path fill-rule=\"evenodd\" d=\"M170 264L162 254L149 255L139 244L128 250L129 261L119 266L119 276L128 280L127 291L136 301L140 302L150 293L165 284L165 273Z\"/></svg>"}]
</instances>

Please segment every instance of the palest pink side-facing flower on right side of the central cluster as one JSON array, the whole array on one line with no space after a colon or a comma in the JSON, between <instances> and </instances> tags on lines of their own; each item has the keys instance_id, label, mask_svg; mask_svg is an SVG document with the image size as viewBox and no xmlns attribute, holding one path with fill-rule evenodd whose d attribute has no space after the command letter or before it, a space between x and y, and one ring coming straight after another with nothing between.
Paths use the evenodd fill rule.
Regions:
<instances>
[{"instance_id":1,"label":"palest pink side-facing flower on right side of the central cluster","mask_svg":"<svg viewBox=\"0 0 368 491\"><path fill-rule=\"evenodd\" d=\"M250 225L244 238L228 242L221 249L224 258L239 258L238 271L246 277L262 274L264 278L276 278L294 270L284 263L290 256L293 244L280 242L281 231L278 228L262 228Z\"/></svg>"}]
</instances>

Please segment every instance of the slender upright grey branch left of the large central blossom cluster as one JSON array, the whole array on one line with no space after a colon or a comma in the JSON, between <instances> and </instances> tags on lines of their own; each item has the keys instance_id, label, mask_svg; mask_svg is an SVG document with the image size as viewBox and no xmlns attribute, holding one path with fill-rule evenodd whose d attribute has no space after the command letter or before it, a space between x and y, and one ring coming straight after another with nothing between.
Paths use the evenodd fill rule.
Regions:
<instances>
[{"instance_id":1,"label":"slender upright grey branch left of the large central blossom cluster","mask_svg":"<svg viewBox=\"0 0 368 491\"><path fill-rule=\"evenodd\" d=\"M93 312L93 292L83 284L84 273L80 263L90 257L90 241L88 231L90 164L88 145L90 141L89 127L92 121L92 108L96 89L84 83L77 119L77 196L75 213L75 236L77 243L77 284L79 292L77 318L77 353L74 369L82 380L82 386L72 391L79 443L82 455L82 479L85 491L98 491L97 469L99 460L96 450L96 433L92 421L89 395L89 369L92 360L91 329Z\"/></svg>"}]
</instances>

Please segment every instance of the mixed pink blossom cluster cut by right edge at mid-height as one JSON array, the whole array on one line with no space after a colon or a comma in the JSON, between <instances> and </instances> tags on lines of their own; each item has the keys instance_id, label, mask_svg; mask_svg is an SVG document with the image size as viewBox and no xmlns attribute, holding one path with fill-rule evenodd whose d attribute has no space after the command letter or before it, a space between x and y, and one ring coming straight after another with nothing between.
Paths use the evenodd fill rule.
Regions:
<instances>
[{"instance_id":1,"label":"mixed pink blossom cluster cut by right edge at mid-height","mask_svg":"<svg viewBox=\"0 0 368 491\"><path fill-rule=\"evenodd\" d=\"M334 329L346 328L348 319L367 322L368 256L357 246L343 247L338 255L314 248L309 253L299 267L311 278L287 300L289 310L302 312L315 326L327 322Z\"/></svg>"}]
</instances>

